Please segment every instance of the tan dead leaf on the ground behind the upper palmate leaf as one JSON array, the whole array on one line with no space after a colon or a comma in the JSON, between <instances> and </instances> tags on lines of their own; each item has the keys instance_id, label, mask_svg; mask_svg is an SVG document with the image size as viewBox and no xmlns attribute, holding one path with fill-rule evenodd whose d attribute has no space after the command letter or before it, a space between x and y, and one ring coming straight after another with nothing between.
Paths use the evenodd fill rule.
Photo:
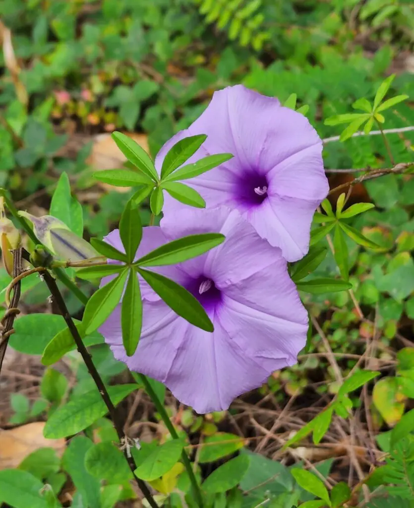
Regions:
<instances>
[{"instance_id":1,"label":"tan dead leaf on the ground behind the upper palmate leaf","mask_svg":"<svg viewBox=\"0 0 414 508\"><path fill-rule=\"evenodd\" d=\"M136 141L147 153L149 153L148 137L146 134L135 134L124 132L125 136ZM126 157L116 146L115 141L111 138L111 134L99 134L94 138L92 150L87 159L87 164L97 171L106 169L120 169ZM117 192L128 192L131 187L114 187L108 183L98 182L102 188L106 190L116 190Z\"/></svg>"}]
</instances>

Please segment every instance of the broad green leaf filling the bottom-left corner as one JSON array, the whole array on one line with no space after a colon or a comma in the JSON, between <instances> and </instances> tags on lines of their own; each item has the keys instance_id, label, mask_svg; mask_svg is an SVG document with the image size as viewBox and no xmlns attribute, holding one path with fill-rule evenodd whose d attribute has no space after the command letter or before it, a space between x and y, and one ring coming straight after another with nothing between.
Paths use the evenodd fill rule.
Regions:
<instances>
[{"instance_id":1,"label":"broad green leaf filling the bottom-left corner","mask_svg":"<svg viewBox=\"0 0 414 508\"><path fill-rule=\"evenodd\" d=\"M13 508L49 508L40 495L43 483L27 471L3 469L0 471L0 501Z\"/></svg>"}]
</instances>

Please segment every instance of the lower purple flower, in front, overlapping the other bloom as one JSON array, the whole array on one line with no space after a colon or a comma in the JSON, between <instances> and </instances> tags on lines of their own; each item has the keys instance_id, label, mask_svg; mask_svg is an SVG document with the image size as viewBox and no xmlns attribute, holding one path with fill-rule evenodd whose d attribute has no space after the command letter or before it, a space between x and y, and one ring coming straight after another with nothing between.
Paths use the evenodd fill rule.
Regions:
<instances>
[{"instance_id":1,"label":"lower purple flower, in front, overlapping the other bloom","mask_svg":"<svg viewBox=\"0 0 414 508\"><path fill-rule=\"evenodd\" d=\"M143 327L135 354L127 357L122 345L120 305L100 328L115 358L158 379L201 414L227 409L274 370L295 364L308 328L280 249L261 239L236 210L189 209L169 215L163 227L144 228L138 255L207 232L221 232L226 240L198 258L157 271L198 298L213 333L187 323L142 280ZM106 241L122 249L117 230Z\"/></svg>"}]
</instances>

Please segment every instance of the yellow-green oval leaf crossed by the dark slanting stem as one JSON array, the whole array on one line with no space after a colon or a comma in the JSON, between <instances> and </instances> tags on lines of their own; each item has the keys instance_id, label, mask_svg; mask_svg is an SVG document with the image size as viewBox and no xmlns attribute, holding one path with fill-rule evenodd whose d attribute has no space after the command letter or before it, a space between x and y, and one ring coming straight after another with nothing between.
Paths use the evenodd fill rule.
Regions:
<instances>
[{"instance_id":1,"label":"yellow-green oval leaf crossed by the dark slanting stem","mask_svg":"<svg viewBox=\"0 0 414 508\"><path fill-rule=\"evenodd\" d=\"M82 342L85 346L93 346L96 344L102 344L104 342L103 336L97 331L85 336L85 327L81 322L75 321L75 326L78 329ZM52 365L58 362L63 355L76 349L75 340L71 334L69 328L65 325L65 328L56 333L56 335L50 340L45 347L42 355L43 365Z\"/></svg>"}]
</instances>

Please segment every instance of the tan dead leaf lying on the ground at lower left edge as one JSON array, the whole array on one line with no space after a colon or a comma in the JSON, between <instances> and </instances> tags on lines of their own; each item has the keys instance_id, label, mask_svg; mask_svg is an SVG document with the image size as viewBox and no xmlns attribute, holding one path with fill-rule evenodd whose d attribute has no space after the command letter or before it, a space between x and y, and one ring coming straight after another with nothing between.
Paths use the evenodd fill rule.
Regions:
<instances>
[{"instance_id":1,"label":"tan dead leaf lying on the ground at lower left edge","mask_svg":"<svg viewBox=\"0 0 414 508\"><path fill-rule=\"evenodd\" d=\"M57 455L65 450L65 439L46 439L43 436L45 422L34 422L0 430L0 469L17 467L20 462L38 448L53 448Z\"/></svg>"}]
</instances>

